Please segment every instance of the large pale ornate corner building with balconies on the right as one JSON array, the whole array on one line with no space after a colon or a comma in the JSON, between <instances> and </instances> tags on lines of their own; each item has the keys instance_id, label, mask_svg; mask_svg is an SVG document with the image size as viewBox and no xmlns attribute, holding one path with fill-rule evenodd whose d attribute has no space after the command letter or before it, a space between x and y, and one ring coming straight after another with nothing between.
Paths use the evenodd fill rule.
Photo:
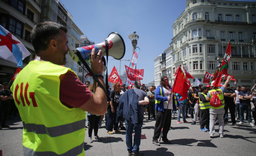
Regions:
<instances>
[{"instance_id":1,"label":"large pale ornate corner building with balconies on the right","mask_svg":"<svg viewBox=\"0 0 256 156\"><path fill-rule=\"evenodd\" d=\"M237 85L253 86L256 2L187 0L186 6L172 26L171 79L175 79L173 74L181 65L203 82L205 72L213 74L222 61L230 40L228 73L235 77Z\"/></svg>"}]
</instances>

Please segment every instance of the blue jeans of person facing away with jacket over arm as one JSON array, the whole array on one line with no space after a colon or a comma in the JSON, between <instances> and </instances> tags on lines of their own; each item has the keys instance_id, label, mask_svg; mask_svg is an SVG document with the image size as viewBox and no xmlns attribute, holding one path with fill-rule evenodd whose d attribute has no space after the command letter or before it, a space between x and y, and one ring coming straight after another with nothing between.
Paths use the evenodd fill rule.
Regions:
<instances>
[{"instance_id":1,"label":"blue jeans of person facing away with jacket over arm","mask_svg":"<svg viewBox=\"0 0 256 156\"><path fill-rule=\"evenodd\" d=\"M138 153L140 148L140 137L141 137L141 127L142 124L138 124L137 127L134 127L134 124L130 121L125 120L126 124L126 146L127 151L133 151L133 153ZM133 127L135 131L134 139L133 139Z\"/></svg>"}]
</instances>

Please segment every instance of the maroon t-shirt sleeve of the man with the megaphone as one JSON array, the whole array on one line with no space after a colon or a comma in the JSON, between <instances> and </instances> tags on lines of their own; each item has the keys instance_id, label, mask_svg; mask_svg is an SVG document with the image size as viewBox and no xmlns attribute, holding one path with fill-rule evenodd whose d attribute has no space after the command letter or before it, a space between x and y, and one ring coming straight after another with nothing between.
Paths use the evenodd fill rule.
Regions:
<instances>
[{"instance_id":1,"label":"maroon t-shirt sleeve of the man with the megaphone","mask_svg":"<svg viewBox=\"0 0 256 156\"><path fill-rule=\"evenodd\" d=\"M92 97L92 92L72 71L62 74L60 80L60 101L63 105L78 108Z\"/></svg>"}]
</instances>

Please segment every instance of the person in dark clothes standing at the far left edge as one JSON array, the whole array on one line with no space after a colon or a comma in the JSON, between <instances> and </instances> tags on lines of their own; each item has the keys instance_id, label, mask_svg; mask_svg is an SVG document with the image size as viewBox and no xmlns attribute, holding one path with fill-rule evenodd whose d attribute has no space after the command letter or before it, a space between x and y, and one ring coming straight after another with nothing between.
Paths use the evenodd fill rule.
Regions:
<instances>
[{"instance_id":1,"label":"person in dark clothes standing at the far left edge","mask_svg":"<svg viewBox=\"0 0 256 156\"><path fill-rule=\"evenodd\" d=\"M7 116L11 110L10 99L13 99L13 93L8 89L9 84L7 82L3 83L3 89L0 90L0 101L1 101L1 110L0 114L0 128L9 128L10 126L5 125Z\"/></svg>"}]
</instances>

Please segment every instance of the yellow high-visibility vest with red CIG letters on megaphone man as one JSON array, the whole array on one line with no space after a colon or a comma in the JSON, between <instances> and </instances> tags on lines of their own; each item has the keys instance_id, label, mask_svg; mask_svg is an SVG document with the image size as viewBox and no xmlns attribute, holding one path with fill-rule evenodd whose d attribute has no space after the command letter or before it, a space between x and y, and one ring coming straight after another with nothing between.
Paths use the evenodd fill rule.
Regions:
<instances>
[{"instance_id":1,"label":"yellow high-visibility vest with red CIG letters on megaphone man","mask_svg":"<svg viewBox=\"0 0 256 156\"><path fill-rule=\"evenodd\" d=\"M30 61L11 86L23 121L23 146L30 151L24 150L25 155L85 155L85 111L60 101L60 75L68 71L50 62Z\"/></svg>"}]
</instances>

